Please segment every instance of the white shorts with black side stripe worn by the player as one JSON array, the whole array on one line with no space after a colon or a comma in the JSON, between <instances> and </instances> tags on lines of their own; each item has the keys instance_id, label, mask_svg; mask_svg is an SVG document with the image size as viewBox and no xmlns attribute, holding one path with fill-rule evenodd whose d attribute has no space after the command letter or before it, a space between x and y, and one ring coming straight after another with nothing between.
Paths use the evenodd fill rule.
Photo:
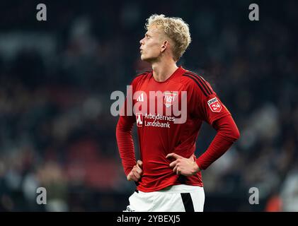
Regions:
<instances>
[{"instance_id":1,"label":"white shorts with black side stripe worn by the player","mask_svg":"<svg viewBox=\"0 0 298 226\"><path fill-rule=\"evenodd\" d=\"M124 212L202 212L204 188L185 184L152 192L134 191Z\"/></svg>"}]
</instances>

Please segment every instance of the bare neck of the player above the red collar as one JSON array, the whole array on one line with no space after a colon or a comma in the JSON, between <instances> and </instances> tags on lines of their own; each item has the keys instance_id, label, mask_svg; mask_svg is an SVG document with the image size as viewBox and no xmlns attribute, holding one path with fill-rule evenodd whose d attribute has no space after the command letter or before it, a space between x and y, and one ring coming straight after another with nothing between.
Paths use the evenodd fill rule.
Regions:
<instances>
[{"instance_id":1,"label":"bare neck of the player above the red collar","mask_svg":"<svg viewBox=\"0 0 298 226\"><path fill-rule=\"evenodd\" d=\"M153 77L158 82L166 81L178 69L174 61L159 61L152 64Z\"/></svg>"}]
</instances>

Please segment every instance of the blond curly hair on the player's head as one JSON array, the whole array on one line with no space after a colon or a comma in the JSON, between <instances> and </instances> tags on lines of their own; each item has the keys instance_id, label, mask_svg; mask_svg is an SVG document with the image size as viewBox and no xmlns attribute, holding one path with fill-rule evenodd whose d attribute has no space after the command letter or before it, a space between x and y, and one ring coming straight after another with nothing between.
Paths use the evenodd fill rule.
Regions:
<instances>
[{"instance_id":1,"label":"blond curly hair on the player's head","mask_svg":"<svg viewBox=\"0 0 298 226\"><path fill-rule=\"evenodd\" d=\"M147 18L146 30L151 25L156 25L157 28L164 30L165 34L172 40L173 58L178 61L191 42L188 24L181 18L154 14Z\"/></svg>"}]
</instances>

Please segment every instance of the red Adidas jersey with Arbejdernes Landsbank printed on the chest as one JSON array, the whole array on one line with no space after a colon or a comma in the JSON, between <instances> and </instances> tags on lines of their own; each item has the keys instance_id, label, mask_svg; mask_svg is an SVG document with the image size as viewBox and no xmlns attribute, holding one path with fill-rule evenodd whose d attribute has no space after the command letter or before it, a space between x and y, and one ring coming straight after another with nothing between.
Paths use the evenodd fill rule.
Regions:
<instances>
[{"instance_id":1,"label":"red Adidas jersey with Arbejdernes Landsbank printed on the chest","mask_svg":"<svg viewBox=\"0 0 298 226\"><path fill-rule=\"evenodd\" d=\"M229 111L204 78L186 71L181 66L163 82L156 81L152 72L134 78L132 93L133 95L137 93L137 97L134 98L133 105L147 101L149 106L149 99L152 98L150 91L163 93L161 97L156 97L156 99L162 98L156 100L156 103L158 101L163 103L164 112L174 101L181 102L183 91L186 91L187 117L183 124L175 124L178 117L173 112L171 115L161 115L157 107L154 112L150 112L150 107L147 107L145 110L142 109L142 112L138 112L137 109L132 116L120 116L118 129L121 128L122 131L131 133L132 125L137 122L139 151L143 162L143 174L137 189L149 192L177 184L203 186L201 172L190 177L177 175L169 167L173 160L167 159L166 155L168 153L176 153L183 157L193 155L202 121L212 124L215 120L229 115ZM179 106L183 105L179 103ZM126 142L123 150L121 138L118 138L118 146L125 174L129 174L136 164L133 142Z\"/></svg>"}]
</instances>

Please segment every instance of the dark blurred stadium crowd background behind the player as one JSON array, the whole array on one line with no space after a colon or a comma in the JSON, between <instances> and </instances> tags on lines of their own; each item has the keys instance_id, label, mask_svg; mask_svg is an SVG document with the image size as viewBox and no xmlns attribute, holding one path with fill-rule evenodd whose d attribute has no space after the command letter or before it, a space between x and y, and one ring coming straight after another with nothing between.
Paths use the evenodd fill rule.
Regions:
<instances>
[{"instance_id":1,"label":"dark blurred stadium crowd background behind the player","mask_svg":"<svg viewBox=\"0 0 298 226\"><path fill-rule=\"evenodd\" d=\"M47 21L36 20L45 3ZM260 20L248 20L248 6ZM1 1L0 210L120 211L127 182L110 93L137 71L152 13L182 17L179 64L209 81L240 140L202 172L206 211L298 210L297 1ZM206 124L200 155L214 131ZM135 136L135 133L134 133ZM137 143L136 143L137 147ZM47 189L47 205L36 188ZM260 191L250 205L248 190Z\"/></svg>"}]
</instances>

